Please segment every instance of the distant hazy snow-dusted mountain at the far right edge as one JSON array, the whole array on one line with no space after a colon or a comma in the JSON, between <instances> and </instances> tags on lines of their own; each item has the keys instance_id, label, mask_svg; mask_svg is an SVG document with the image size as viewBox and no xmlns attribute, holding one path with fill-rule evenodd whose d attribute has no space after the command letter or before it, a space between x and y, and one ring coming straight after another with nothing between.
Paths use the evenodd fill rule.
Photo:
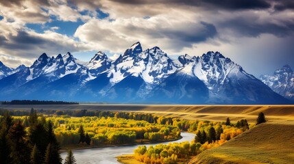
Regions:
<instances>
[{"instance_id":1,"label":"distant hazy snow-dusted mountain at the far right edge","mask_svg":"<svg viewBox=\"0 0 294 164\"><path fill-rule=\"evenodd\" d=\"M275 70L273 75L264 74L260 80L278 94L294 100L294 72L289 65Z\"/></svg>"}]
</instances>

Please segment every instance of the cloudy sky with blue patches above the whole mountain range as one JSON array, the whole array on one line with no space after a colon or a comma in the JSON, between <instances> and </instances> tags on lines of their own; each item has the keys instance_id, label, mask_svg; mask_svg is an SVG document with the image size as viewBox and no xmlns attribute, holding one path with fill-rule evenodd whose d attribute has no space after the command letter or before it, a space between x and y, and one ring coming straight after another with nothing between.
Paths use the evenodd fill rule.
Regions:
<instances>
[{"instance_id":1,"label":"cloudy sky with blue patches above the whole mountain range","mask_svg":"<svg viewBox=\"0 0 294 164\"><path fill-rule=\"evenodd\" d=\"M294 1L0 1L0 61L10 67L44 52L116 56L138 41L174 58L220 51L250 74L271 74L294 68Z\"/></svg>"}]
</instances>

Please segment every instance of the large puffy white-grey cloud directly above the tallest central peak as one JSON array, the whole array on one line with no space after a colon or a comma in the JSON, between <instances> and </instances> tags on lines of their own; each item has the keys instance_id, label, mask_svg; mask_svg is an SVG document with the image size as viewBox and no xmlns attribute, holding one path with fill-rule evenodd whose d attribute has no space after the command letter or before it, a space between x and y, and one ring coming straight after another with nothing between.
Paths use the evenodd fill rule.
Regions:
<instances>
[{"instance_id":1,"label":"large puffy white-grey cloud directly above the tallest central peak","mask_svg":"<svg viewBox=\"0 0 294 164\"><path fill-rule=\"evenodd\" d=\"M93 49L122 53L126 47L140 41L148 48L160 46L176 53L193 42L203 42L217 33L213 25L199 21L199 14L171 10L151 18L90 19L77 28L75 37L95 45ZM212 27L212 28L209 28Z\"/></svg>"}]
</instances>

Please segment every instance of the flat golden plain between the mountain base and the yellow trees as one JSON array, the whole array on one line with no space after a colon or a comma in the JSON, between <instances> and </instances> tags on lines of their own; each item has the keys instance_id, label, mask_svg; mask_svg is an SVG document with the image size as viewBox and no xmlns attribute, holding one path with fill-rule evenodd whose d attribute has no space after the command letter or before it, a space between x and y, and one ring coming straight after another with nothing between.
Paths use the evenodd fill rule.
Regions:
<instances>
[{"instance_id":1,"label":"flat golden plain between the mountain base and the yellow trees","mask_svg":"<svg viewBox=\"0 0 294 164\"><path fill-rule=\"evenodd\" d=\"M258 113L263 112L268 120L294 120L294 105L0 105L0 109L54 109L54 110L100 110L156 113L187 120L232 122L247 119L256 122Z\"/></svg>"}]
</instances>

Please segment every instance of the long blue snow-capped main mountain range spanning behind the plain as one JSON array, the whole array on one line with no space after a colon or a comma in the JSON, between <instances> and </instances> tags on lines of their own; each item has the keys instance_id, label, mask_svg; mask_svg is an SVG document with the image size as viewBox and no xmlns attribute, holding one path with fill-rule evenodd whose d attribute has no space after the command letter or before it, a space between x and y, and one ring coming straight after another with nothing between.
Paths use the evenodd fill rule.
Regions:
<instances>
[{"instance_id":1,"label":"long blue snow-capped main mountain range spanning behind the plain","mask_svg":"<svg viewBox=\"0 0 294 164\"><path fill-rule=\"evenodd\" d=\"M0 66L0 100L291 103L219 52L172 59L157 46L143 51L136 42L115 60L101 51L88 63L71 53L57 57L43 53L30 67Z\"/></svg>"}]
</instances>

